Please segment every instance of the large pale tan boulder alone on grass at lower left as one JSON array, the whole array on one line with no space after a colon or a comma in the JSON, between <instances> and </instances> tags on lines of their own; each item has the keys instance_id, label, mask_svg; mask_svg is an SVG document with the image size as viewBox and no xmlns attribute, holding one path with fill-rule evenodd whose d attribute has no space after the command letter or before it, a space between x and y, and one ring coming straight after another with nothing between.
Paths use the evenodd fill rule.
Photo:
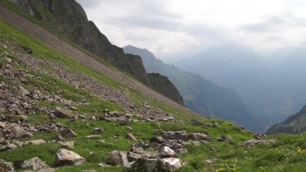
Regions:
<instances>
[{"instance_id":1,"label":"large pale tan boulder alone on grass at lower left","mask_svg":"<svg viewBox=\"0 0 306 172\"><path fill-rule=\"evenodd\" d=\"M77 153L66 149L59 149L55 155L56 165L80 165L86 162L86 159Z\"/></svg>"}]
</instances>

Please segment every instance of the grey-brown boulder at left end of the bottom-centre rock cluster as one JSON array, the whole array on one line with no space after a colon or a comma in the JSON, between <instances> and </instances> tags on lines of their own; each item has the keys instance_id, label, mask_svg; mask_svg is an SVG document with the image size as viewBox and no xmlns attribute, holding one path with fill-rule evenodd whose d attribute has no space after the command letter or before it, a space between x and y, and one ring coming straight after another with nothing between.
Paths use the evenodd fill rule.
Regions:
<instances>
[{"instance_id":1,"label":"grey-brown boulder at left end of the bottom-centre rock cluster","mask_svg":"<svg viewBox=\"0 0 306 172\"><path fill-rule=\"evenodd\" d=\"M127 160L127 155L119 151L110 152L106 163L110 165L124 165L125 167L130 167L130 164Z\"/></svg>"}]
</instances>

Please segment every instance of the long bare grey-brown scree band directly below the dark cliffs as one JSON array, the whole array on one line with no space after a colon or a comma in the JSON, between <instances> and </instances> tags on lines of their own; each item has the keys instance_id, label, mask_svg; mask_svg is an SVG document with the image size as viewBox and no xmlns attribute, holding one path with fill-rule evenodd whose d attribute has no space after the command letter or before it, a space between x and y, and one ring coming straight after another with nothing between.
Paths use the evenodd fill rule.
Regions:
<instances>
[{"instance_id":1,"label":"long bare grey-brown scree band directly below the dark cliffs","mask_svg":"<svg viewBox=\"0 0 306 172\"><path fill-rule=\"evenodd\" d=\"M148 87L145 87L142 83L135 81L126 74L118 70L115 70L112 66L102 63L101 61L97 60L94 56L91 56L88 53L77 48L76 45L68 44L66 41L63 41L57 36L51 34L50 32L41 28L39 25L27 21L25 18L15 14L12 11L9 11L8 9L5 9L4 7L0 8L1 8L0 20L11 24L12 26L22 30L23 32L31 35L32 37L36 38L39 41L43 41L44 44L50 46L51 48L54 48L55 50L65 54L66 56L73 58L74 60L77 60L79 63L82 63L92 69L95 69L103 73L105 76L116 80L120 84L127 85L128 87L143 93L145 96L157 99L160 102L164 103L167 102L166 104L170 104L179 109L183 108L184 110L191 112L190 110L165 98L164 96L158 94L157 92L152 91ZM121 86L116 85L116 87L121 87ZM146 112L144 112L144 114L146 114Z\"/></svg>"}]
</instances>

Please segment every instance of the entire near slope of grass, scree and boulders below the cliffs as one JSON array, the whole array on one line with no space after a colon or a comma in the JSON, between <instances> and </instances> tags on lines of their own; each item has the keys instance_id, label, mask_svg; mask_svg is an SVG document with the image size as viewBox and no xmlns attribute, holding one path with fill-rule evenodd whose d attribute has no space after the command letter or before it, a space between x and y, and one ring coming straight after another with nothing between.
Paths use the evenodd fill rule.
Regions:
<instances>
[{"instance_id":1,"label":"entire near slope of grass, scree and boulders below the cliffs","mask_svg":"<svg viewBox=\"0 0 306 172\"><path fill-rule=\"evenodd\" d=\"M30 21L0 1L0 171L306 170L304 134L201 118Z\"/></svg>"}]
</instances>

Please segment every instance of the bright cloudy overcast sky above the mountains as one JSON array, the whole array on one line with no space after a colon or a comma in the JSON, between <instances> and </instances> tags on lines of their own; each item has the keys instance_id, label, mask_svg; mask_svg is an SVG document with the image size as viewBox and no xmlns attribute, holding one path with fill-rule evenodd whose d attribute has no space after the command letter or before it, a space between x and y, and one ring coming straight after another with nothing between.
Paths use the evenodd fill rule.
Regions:
<instances>
[{"instance_id":1,"label":"bright cloudy overcast sky above the mountains","mask_svg":"<svg viewBox=\"0 0 306 172\"><path fill-rule=\"evenodd\" d=\"M77 0L120 47L163 60L235 44L263 53L306 45L304 0Z\"/></svg>"}]
</instances>

